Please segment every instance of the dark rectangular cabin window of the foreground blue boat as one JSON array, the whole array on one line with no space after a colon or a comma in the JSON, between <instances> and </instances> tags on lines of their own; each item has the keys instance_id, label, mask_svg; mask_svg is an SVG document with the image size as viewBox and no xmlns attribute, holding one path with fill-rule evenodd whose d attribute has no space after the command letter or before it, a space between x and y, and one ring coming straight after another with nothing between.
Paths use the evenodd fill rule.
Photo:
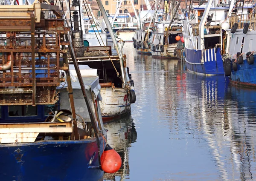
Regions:
<instances>
[{"instance_id":1,"label":"dark rectangular cabin window of the foreground blue boat","mask_svg":"<svg viewBox=\"0 0 256 181\"><path fill-rule=\"evenodd\" d=\"M37 115L37 106L31 105L15 105L8 106L9 116L36 116Z\"/></svg>"}]
</instances>

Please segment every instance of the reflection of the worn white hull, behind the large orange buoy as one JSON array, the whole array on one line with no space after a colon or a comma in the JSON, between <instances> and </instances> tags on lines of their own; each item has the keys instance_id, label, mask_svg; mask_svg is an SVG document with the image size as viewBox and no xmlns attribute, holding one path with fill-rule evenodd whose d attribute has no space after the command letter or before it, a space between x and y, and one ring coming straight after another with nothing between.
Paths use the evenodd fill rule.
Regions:
<instances>
[{"instance_id":1,"label":"reflection of the worn white hull, behind the large orange buoy","mask_svg":"<svg viewBox=\"0 0 256 181\"><path fill-rule=\"evenodd\" d=\"M115 149L122 158L122 166L116 173L105 173L104 180L106 181L122 181L130 175L129 168L129 148L131 144L137 140L137 132L131 114L116 121L104 124L105 129L108 129L108 144Z\"/></svg>"}]
</instances>

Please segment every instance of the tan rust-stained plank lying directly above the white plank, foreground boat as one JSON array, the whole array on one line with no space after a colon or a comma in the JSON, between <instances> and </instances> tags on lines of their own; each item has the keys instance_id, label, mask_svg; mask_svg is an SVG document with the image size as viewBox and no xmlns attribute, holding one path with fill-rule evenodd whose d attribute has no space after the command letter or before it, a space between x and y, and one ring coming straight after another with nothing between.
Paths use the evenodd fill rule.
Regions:
<instances>
[{"instance_id":1,"label":"tan rust-stained plank lying directly above the white plank, foreground boat","mask_svg":"<svg viewBox=\"0 0 256 181\"><path fill-rule=\"evenodd\" d=\"M47 128L50 126L65 126L72 127L71 122L53 122L53 123L12 123L12 124L0 124L1 128Z\"/></svg>"}]
</instances>

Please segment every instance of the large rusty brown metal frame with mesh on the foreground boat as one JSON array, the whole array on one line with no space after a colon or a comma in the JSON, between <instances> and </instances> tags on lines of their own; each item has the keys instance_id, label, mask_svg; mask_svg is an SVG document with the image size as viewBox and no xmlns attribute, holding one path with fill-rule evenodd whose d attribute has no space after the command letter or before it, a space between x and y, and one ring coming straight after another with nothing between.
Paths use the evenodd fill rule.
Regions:
<instances>
[{"instance_id":1,"label":"large rusty brown metal frame with mesh on the foreground boat","mask_svg":"<svg viewBox=\"0 0 256 181\"><path fill-rule=\"evenodd\" d=\"M56 16L55 19L45 19L42 17L42 11L52 11ZM66 67L60 67L59 64L61 45L69 45L69 42L60 38L69 31L64 27L62 15L63 12L58 6L44 3L33 3L29 6L0 6L0 34L2 34L0 36L2 55L0 60L3 64L11 61L9 73L6 70L0 72L0 105L32 104L35 106L36 104L52 104L53 101L57 101L56 95L54 95L55 98L48 98L48 101L40 101L41 96L38 94L44 92L46 96L53 96L56 93L56 87L62 81L59 77L59 70L66 69ZM46 37L46 34L52 36ZM35 60L35 54L38 60ZM42 60L41 56L44 56ZM26 62L29 64L25 65ZM38 64L41 62L42 65ZM40 73L42 76L37 76L37 70L42 72ZM24 75L22 72L28 73ZM9 97L15 98L17 95L17 101L10 102ZM31 96L27 98L31 102L21 101L22 96L23 99Z\"/></svg>"}]
</instances>

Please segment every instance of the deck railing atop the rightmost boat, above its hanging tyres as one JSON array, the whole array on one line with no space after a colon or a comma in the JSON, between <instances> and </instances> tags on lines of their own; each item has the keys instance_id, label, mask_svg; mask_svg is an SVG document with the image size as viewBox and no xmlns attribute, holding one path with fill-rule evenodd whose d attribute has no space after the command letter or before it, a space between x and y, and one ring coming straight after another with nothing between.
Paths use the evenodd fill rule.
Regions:
<instances>
[{"instance_id":1,"label":"deck railing atop the rightmost boat, above its hanging tyres","mask_svg":"<svg viewBox=\"0 0 256 181\"><path fill-rule=\"evenodd\" d=\"M256 30L256 14L248 13L248 14L238 14L230 17L230 28L237 23L237 29L243 29L245 23L249 23L249 29Z\"/></svg>"}]
</instances>

